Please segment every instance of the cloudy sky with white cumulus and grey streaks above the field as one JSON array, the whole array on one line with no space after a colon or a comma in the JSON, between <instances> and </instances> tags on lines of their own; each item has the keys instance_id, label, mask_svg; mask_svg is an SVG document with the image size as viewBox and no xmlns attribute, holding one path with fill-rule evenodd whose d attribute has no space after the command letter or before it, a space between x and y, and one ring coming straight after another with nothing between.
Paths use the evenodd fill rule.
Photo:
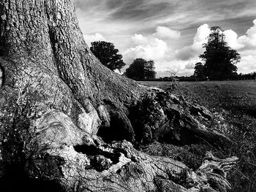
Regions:
<instances>
[{"instance_id":1,"label":"cloudy sky with white cumulus and grey streaks above the field","mask_svg":"<svg viewBox=\"0 0 256 192\"><path fill-rule=\"evenodd\" d=\"M75 0L86 42L113 42L127 65L153 59L157 76L191 75L211 26L241 54L238 72L256 71L255 0Z\"/></svg>"}]
</instances>

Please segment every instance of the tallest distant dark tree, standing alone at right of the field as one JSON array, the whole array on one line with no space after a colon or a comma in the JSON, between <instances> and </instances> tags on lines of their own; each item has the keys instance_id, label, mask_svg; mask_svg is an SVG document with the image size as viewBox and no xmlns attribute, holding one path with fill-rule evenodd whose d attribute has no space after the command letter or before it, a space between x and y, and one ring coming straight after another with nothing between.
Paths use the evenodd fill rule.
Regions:
<instances>
[{"instance_id":1,"label":"tallest distant dark tree, standing alone at right of the field","mask_svg":"<svg viewBox=\"0 0 256 192\"><path fill-rule=\"evenodd\" d=\"M211 27L208 42L203 45L206 51L200 55L205 61L205 74L213 79L226 79L237 71L236 64L240 61L240 55L236 50L227 46L225 34L218 26Z\"/></svg>"}]
</instances>

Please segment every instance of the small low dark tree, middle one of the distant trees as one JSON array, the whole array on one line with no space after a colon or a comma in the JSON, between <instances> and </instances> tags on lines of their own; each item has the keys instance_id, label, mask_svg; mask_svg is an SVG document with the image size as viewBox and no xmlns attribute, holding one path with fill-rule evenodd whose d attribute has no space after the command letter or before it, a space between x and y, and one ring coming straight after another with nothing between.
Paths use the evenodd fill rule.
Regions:
<instances>
[{"instance_id":1,"label":"small low dark tree, middle one of the distant trees","mask_svg":"<svg viewBox=\"0 0 256 192\"><path fill-rule=\"evenodd\" d=\"M134 80L154 79L157 74L154 69L154 61L136 58L124 74Z\"/></svg>"}]
</instances>

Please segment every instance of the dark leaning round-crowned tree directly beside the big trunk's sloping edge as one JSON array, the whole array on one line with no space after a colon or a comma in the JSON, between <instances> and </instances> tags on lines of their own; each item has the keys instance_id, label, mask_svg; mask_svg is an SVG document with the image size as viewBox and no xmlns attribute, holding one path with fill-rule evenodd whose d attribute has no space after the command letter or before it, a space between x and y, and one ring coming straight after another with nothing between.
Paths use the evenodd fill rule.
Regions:
<instances>
[{"instance_id":1,"label":"dark leaning round-crowned tree directly beside the big trunk's sloping edge","mask_svg":"<svg viewBox=\"0 0 256 192\"><path fill-rule=\"evenodd\" d=\"M91 42L90 50L103 65L112 71L118 69L120 72L121 68L125 66L123 56L118 53L119 50L111 42Z\"/></svg>"}]
</instances>

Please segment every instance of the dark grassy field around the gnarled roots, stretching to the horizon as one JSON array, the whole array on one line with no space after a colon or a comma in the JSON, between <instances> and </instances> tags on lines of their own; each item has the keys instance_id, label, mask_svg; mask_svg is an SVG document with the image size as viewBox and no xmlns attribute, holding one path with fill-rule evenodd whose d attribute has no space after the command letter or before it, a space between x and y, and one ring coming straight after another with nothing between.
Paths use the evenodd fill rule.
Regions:
<instances>
[{"instance_id":1,"label":"dark grassy field around the gnarled roots, stretching to the horizon","mask_svg":"<svg viewBox=\"0 0 256 192\"><path fill-rule=\"evenodd\" d=\"M142 85L162 89L170 88L172 82L139 82ZM229 176L233 191L256 191L256 82L254 81L216 81L216 82L177 82L173 93L183 95L192 103L207 107L220 122L221 126L212 125L222 134L233 140L233 145L215 149L211 146L185 146L189 153L181 154L184 163L196 168L203 160L206 150L214 151L215 155L225 158L236 155L239 162ZM176 146L155 144L157 153L176 157L176 153L184 150ZM187 148L186 148L187 147ZM170 149L170 153L168 153ZM173 150L174 149L174 150ZM176 153L173 153L176 152ZM165 153L165 154L159 154Z\"/></svg>"}]
</instances>

